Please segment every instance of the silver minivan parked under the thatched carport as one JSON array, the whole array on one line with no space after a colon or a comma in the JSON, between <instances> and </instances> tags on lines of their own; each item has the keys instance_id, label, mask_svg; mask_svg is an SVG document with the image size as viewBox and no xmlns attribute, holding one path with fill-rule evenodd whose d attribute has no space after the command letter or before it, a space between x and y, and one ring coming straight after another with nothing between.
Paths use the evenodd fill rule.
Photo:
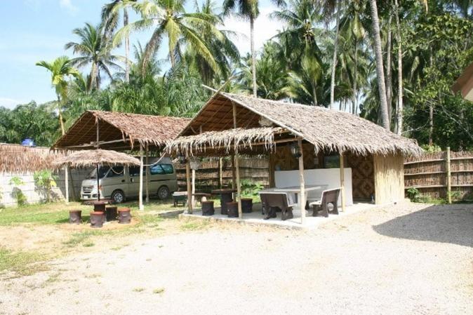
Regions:
<instances>
[{"instance_id":1,"label":"silver minivan parked under the thatched carport","mask_svg":"<svg viewBox=\"0 0 473 315\"><path fill-rule=\"evenodd\" d=\"M151 159L154 163L157 159ZM166 199L178 190L175 169L171 159L164 158L143 169L143 194L145 194L146 173L148 174L149 195ZM112 199L121 203L126 199L138 197L140 192L140 166L102 166L98 169L100 198ZM86 180L82 181L81 200L97 199L97 170L94 168Z\"/></svg>"}]
</instances>

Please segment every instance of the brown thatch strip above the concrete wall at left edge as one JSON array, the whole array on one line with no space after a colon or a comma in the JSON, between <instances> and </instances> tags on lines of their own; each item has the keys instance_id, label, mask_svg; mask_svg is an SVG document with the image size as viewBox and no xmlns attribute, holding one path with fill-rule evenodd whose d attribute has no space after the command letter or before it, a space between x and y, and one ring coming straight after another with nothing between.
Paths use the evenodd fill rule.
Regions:
<instances>
[{"instance_id":1,"label":"brown thatch strip above the concrete wall at left edge","mask_svg":"<svg viewBox=\"0 0 473 315\"><path fill-rule=\"evenodd\" d=\"M0 143L0 173L18 174L51 169L53 160L64 154L65 152L53 151L48 147Z\"/></svg>"}]
</instances>

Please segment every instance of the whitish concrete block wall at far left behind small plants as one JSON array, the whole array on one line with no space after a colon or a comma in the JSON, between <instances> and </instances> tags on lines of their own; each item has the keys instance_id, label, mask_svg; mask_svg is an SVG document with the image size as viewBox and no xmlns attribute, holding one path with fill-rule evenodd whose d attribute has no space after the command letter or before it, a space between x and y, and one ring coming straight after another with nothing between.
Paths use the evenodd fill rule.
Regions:
<instances>
[{"instance_id":1,"label":"whitish concrete block wall at far left behind small plants","mask_svg":"<svg viewBox=\"0 0 473 315\"><path fill-rule=\"evenodd\" d=\"M86 178L86 175L90 173L91 168L77 168L71 170L74 192L76 197L79 198L81 192L81 183L82 180ZM20 177L23 185L20 185L18 189L25 194L27 203L39 203L46 200L46 195L44 192L36 186L34 179L34 173L21 173L21 174L11 174L11 173L0 173L0 207L10 207L16 206L16 199L14 198L12 192L15 189L15 185L10 185L12 177ZM56 184L57 187L53 187L51 192L51 197L56 200L61 200L65 198L65 172L60 170L55 173L57 176ZM70 178L69 178L70 180ZM69 184L69 198L72 200L72 185Z\"/></svg>"}]
</instances>

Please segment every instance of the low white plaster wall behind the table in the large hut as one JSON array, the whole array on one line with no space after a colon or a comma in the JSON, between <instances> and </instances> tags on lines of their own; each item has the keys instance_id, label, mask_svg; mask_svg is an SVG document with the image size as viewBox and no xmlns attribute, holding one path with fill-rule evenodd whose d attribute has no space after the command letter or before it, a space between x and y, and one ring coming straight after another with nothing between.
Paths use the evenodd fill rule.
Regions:
<instances>
[{"instance_id":1,"label":"low white plaster wall behind the table in the large hut","mask_svg":"<svg viewBox=\"0 0 473 315\"><path fill-rule=\"evenodd\" d=\"M345 205L353 204L352 169L345 168ZM304 170L305 185L328 185L327 189L340 187L340 168L317 168ZM277 170L274 172L276 187L299 186L299 170ZM314 194L314 192L312 192ZM309 197L312 196L309 192ZM341 196L338 203L341 203Z\"/></svg>"}]
</instances>

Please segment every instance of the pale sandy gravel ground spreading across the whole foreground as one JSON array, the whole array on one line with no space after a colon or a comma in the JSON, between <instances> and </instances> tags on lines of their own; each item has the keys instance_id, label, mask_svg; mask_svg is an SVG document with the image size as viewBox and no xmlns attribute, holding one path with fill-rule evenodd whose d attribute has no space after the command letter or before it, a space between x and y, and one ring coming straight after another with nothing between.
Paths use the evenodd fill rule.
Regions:
<instances>
[{"instance_id":1,"label":"pale sandy gravel ground spreading across the whole foreground","mask_svg":"<svg viewBox=\"0 0 473 315\"><path fill-rule=\"evenodd\" d=\"M215 224L0 282L0 314L473 314L473 205Z\"/></svg>"}]
</instances>

